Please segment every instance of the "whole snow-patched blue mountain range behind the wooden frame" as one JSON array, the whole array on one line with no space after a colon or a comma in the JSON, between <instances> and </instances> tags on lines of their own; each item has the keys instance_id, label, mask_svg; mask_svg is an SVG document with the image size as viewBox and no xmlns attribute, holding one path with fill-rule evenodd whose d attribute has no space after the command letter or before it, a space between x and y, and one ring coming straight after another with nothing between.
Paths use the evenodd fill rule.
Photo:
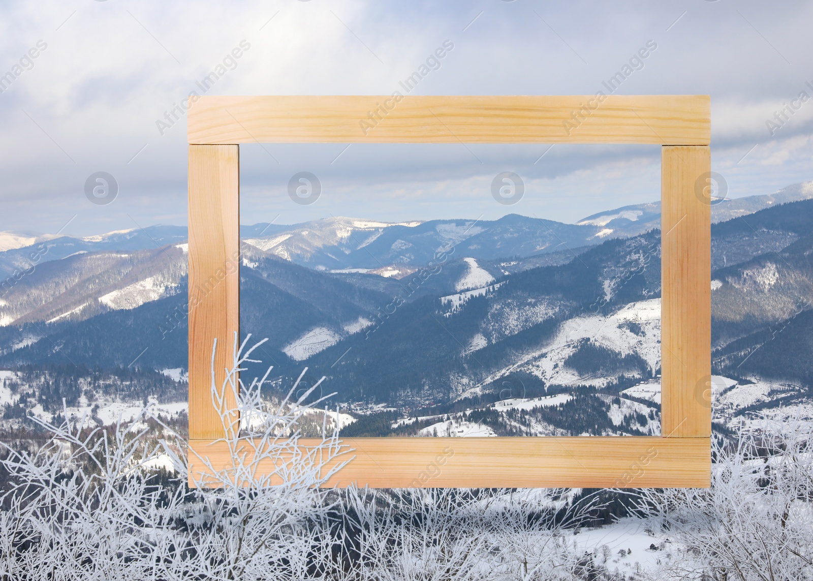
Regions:
<instances>
[{"instance_id":1,"label":"whole snow-patched blue mountain range behind the wooden frame","mask_svg":"<svg viewBox=\"0 0 813 581\"><path fill-rule=\"evenodd\" d=\"M275 366L273 386L304 366L303 385L326 375L357 418L349 435L657 433L659 232L598 236L646 221L634 212L589 225L509 215L244 226L241 330L270 339L259 355ZM712 228L715 373L732 421L743 406L802 405L813 381L813 201L740 217ZM541 231L554 227L554 238L589 229L598 243L546 247ZM3 286L0 365L49 365L56 384L83 387L0 394L4 414L62 397L79 409L95 391L59 379L69 368L171 370L183 383L187 248L183 232L156 228L37 242L53 242L49 260ZM446 260L429 267L438 248Z\"/></svg>"}]
</instances>

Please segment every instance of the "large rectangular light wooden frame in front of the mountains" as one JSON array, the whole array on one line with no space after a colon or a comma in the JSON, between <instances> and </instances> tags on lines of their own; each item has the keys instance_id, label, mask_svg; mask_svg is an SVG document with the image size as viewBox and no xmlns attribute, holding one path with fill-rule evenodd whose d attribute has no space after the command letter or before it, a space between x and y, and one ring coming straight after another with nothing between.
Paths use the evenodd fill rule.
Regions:
<instances>
[{"instance_id":1,"label":"large rectangular light wooden frame in front of the mountains","mask_svg":"<svg viewBox=\"0 0 813 581\"><path fill-rule=\"evenodd\" d=\"M328 486L708 487L710 117L707 95L190 99L189 473L204 457L232 461L210 389L211 341L231 345L238 330L238 144L654 143L663 146L663 436L345 439L354 458ZM218 350L221 376L230 356Z\"/></svg>"}]
</instances>

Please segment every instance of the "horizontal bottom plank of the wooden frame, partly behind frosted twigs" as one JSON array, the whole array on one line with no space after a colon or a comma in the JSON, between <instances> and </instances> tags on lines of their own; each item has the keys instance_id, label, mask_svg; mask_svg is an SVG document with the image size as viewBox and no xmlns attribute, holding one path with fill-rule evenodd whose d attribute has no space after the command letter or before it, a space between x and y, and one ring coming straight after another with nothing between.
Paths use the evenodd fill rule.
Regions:
<instances>
[{"instance_id":1,"label":"horizontal bottom plank of the wooden frame, partly behind frosted twigs","mask_svg":"<svg viewBox=\"0 0 813 581\"><path fill-rule=\"evenodd\" d=\"M307 447L316 440L302 440ZM709 439L629 437L348 438L327 486L709 487ZM227 445L191 441L190 474L232 465ZM267 467L268 472L271 466ZM190 480L191 482L191 480Z\"/></svg>"}]
</instances>

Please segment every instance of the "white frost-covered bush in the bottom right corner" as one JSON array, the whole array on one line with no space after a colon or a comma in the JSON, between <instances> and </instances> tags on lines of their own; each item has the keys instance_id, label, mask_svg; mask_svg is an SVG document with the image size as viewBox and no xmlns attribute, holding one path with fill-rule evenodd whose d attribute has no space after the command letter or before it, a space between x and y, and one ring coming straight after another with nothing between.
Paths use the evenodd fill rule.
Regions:
<instances>
[{"instance_id":1,"label":"white frost-covered bush in the bottom right corner","mask_svg":"<svg viewBox=\"0 0 813 581\"><path fill-rule=\"evenodd\" d=\"M676 546L656 579L813 579L813 425L763 416L715 439L710 489L639 491Z\"/></svg>"}]
</instances>

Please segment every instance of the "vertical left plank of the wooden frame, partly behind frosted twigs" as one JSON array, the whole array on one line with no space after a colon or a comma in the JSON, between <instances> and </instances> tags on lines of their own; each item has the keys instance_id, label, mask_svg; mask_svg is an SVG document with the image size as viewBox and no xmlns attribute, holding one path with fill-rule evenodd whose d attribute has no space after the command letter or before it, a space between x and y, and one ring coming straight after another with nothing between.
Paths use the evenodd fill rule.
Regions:
<instances>
[{"instance_id":1,"label":"vertical left plank of the wooden frame, partly behind frosted twigs","mask_svg":"<svg viewBox=\"0 0 813 581\"><path fill-rule=\"evenodd\" d=\"M224 437L211 400L232 366L240 320L240 173L237 146L189 146L189 438ZM228 408L235 408L233 397Z\"/></svg>"}]
</instances>

